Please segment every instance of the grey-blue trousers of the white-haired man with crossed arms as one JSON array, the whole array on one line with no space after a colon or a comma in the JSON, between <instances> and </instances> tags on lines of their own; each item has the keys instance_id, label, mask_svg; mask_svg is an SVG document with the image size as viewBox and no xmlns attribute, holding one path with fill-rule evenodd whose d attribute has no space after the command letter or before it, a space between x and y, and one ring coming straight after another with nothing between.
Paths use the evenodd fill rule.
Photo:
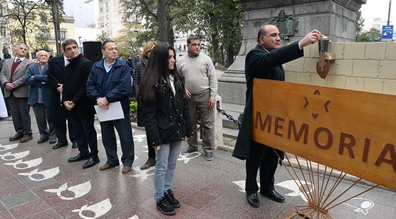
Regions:
<instances>
[{"instance_id":1,"label":"grey-blue trousers of the white-haired man with crossed arms","mask_svg":"<svg viewBox=\"0 0 396 219\"><path fill-rule=\"evenodd\" d=\"M49 107L44 106L42 103L36 103L33 105L33 112L36 117L40 137L43 139L55 139L55 126L52 122L49 122Z\"/></svg>"}]
</instances>

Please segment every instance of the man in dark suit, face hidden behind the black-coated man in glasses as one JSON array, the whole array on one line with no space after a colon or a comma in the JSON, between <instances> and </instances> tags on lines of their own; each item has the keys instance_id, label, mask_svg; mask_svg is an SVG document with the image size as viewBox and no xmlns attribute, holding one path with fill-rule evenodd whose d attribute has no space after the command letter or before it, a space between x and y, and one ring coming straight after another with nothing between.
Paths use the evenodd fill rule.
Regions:
<instances>
[{"instance_id":1,"label":"man in dark suit, face hidden behind the black-coated man in glasses","mask_svg":"<svg viewBox=\"0 0 396 219\"><path fill-rule=\"evenodd\" d=\"M54 145L52 147L53 149L68 145L68 139L66 138L66 118L68 117L68 112L61 103L63 75L66 64L68 64L68 61L64 54L48 60L47 75L48 82L51 83L50 121L55 125L55 134L58 139L58 144ZM73 128L70 122L68 122L68 131L69 139L73 144L72 148L77 148L77 142L73 137Z\"/></svg>"}]
</instances>

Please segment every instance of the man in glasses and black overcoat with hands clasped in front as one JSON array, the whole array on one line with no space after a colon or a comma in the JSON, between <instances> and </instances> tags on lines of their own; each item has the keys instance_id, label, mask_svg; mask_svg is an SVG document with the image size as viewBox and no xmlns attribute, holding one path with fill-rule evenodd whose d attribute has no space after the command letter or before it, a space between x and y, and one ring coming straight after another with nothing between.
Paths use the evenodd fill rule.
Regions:
<instances>
[{"instance_id":1,"label":"man in glasses and black overcoat with hands clasped in front","mask_svg":"<svg viewBox=\"0 0 396 219\"><path fill-rule=\"evenodd\" d=\"M64 40L62 48L69 62L63 77L62 102L68 110L68 122L73 126L73 136L80 151L80 154L68 161L88 159L83 165L85 169L99 163L98 139L93 126L95 110L85 88L92 62L78 53L77 42L73 39Z\"/></svg>"}]
</instances>

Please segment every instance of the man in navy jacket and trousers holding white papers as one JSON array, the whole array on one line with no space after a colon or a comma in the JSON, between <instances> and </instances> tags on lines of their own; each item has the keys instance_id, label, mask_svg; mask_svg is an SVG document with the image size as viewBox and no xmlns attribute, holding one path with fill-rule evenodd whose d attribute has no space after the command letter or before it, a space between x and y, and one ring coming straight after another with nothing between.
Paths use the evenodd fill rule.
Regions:
<instances>
[{"instance_id":1,"label":"man in navy jacket and trousers holding white papers","mask_svg":"<svg viewBox=\"0 0 396 219\"><path fill-rule=\"evenodd\" d=\"M108 108L109 103L120 101L123 107L124 119L115 119L100 122L102 141L105 146L108 161L100 166L100 170L106 170L120 166L117 155L117 141L114 128L120 136L123 156L123 173L132 169L135 158L134 144L132 139L132 127L129 114L130 93L130 68L127 63L118 58L117 45L114 41L105 41L102 44L104 58L93 64L87 82L87 95L99 107Z\"/></svg>"}]
</instances>

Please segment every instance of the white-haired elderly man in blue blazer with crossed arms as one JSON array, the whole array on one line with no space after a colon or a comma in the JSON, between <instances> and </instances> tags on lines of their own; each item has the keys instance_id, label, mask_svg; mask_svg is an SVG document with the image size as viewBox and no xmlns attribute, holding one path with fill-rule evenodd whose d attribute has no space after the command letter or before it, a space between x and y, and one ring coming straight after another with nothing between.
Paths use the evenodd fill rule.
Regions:
<instances>
[{"instance_id":1,"label":"white-haired elderly man in blue blazer with crossed arms","mask_svg":"<svg viewBox=\"0 0 396 219\"><path fill-rule=\"evenodd\" d=\"M38 63L26 70L25 82L30 85L28 105L33 107L40 139L37 144L48 141L56 143L55 126L49 121L51 85L48 83L48 53L44 50L36 53ZM47 128L48 123L48 128Z\"/></svg>"}]
</instances>

